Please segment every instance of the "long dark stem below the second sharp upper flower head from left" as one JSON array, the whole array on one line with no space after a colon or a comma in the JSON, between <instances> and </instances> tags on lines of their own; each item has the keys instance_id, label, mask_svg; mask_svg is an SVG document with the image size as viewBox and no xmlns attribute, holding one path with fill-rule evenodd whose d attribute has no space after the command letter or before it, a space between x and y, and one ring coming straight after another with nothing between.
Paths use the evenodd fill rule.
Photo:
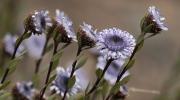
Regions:
<instances>
[{"instance_id":1,"label":"long dark stem below the second sharp upper flower head from left","mask_svg":"<svg viewBox=\"0 0 180 100\"><path fill-rule=\"evenodd\" d=\"M57 53L57 48L58 48L58 44L54 43L53 56ZM51 60L51 62L49 64L48 73L47 73L47 76L46 76L45 87L41 91L40 100L43 99L43 95L44 95L44 93L46 91L47 84L48 84L48 81L49 81L49 78L50 78L50 74L51 74L51 70L52 70L52 66L53 66L53 61Z\"/></svg>"}]
</instances>

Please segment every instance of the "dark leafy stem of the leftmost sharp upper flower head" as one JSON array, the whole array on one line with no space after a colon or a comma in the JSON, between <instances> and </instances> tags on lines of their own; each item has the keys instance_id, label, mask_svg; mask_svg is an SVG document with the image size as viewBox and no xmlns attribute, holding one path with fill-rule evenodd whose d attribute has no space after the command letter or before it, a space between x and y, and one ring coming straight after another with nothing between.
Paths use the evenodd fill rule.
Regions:
<instances>
[{"instance_id":1,"label":"dark leafy stem of the leftmost sharp upper flower head","mask_svg":"<svg viewBox=\"0 0 180 100\"><path fill-rule=\"evenodd\" d=\"M26 33L27 33L27 32L25 31L25 32L23 33L23 35L19 38L19 41L17 42L17 44L15 45L15 49L14 49L13 55L11 56L11 60L13 60L13 59L16 57L16 52L17 52L17 50L18 50L21 42L23 41L24 35L25 35ZM1 84L3 84L4 81L6 80L6 78L7 78L7 76L8 76L8 73L9 73L9 70L10 70L9 67L7 67L6 70L5 70L5 73L4 73L3 77L2 77Z\"/></svg>"}]
</instances>

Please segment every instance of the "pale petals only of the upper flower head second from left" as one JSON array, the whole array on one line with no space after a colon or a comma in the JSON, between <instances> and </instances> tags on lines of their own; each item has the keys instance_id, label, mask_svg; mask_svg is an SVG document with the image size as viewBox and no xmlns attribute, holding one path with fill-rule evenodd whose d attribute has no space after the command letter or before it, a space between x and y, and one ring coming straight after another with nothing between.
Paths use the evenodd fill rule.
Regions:
<instances>
[{"instance_id":1,"label":"pale petals only of the upper flower head second from left","mask_svg":"<svg viewBox=\"0 0 180 100\"><path fill-rule=\"evenodd\" d=\"M73 40L76 39L75 32L73 29L73 22L64 12L57 9L55 20L58 22L60 26L64 28L62 31L65 31L65 33L61 34L65 34L68 38L72 38Z\"/></svg>"}]
</instances>

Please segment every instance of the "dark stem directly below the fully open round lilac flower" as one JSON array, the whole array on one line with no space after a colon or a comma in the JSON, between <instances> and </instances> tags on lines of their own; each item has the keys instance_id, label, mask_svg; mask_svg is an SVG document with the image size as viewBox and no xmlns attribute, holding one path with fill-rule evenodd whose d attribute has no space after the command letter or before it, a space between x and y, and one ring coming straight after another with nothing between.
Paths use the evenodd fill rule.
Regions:
<instances>
[{"instance_id":1,"label":"dark stem directly below the fully open round lilac flower","mask_svg":"<svg viewBox=\"0 0 180 100\"><path fill-rule=\"evenodd\" d=\"M91 94L93 91L96 90L97 86L99 85L101 79L103 78L105 72L107 71L107 69L108 69L108 67L109 67L109 65L111 64L112 61L113 61L113 59L109 59L109 60L106 62L106 66L105 66L105 68L104 68L101 76L97 78L95 84L93 85L93 87L91 88L91 90L88 92L88 94Z\"/></svg>"}]
</instances>

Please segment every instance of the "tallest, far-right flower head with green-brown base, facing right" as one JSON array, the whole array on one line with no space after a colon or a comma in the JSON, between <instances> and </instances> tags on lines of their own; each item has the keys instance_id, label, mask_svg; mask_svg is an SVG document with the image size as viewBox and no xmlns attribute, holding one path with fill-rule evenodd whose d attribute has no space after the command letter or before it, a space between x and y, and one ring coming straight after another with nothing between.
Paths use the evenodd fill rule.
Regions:
<instances>
[{"instance_id":1,"label":"tallest, far-right flower head with green-brown base, facing right","mask_svg":"<svg viewBox=\"0 0 180 100\"><path fill-rule=\"evenodd\" d=\"M160 15L159 10L155 6L150 6L148 14L141 20L141 31L143 33L160 33L162 30L167 31L164 25L165 18Z\"/></svg>"}]
</instances>

